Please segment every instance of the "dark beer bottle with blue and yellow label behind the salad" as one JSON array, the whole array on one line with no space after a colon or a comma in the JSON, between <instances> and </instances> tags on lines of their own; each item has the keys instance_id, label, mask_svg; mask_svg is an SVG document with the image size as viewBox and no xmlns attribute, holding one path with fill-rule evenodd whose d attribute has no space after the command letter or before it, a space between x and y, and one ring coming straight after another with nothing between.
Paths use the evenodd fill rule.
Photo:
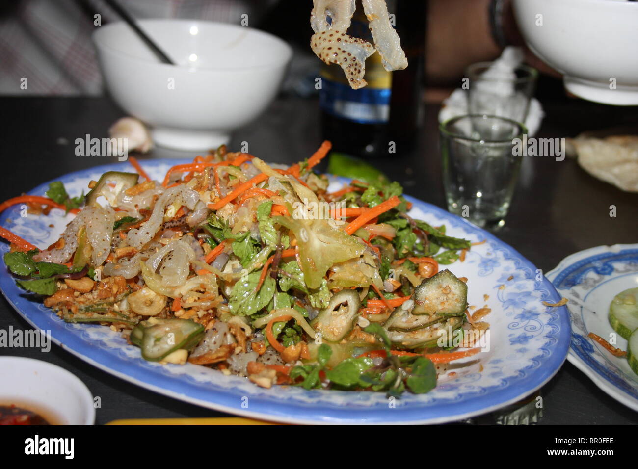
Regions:
<instances>
[{"instance_id":1,"label":"dark beer bottle with blue and yellow label behind the salad","mask_svg":"<svg viewBox=\"0 0 638 469\"><path fill-rule=\"evenodd\" d=\"M424 73L427 1L388 0L387 5L408 67L387 71L375 52L366 60L367 86L352 89L341 67L323 64L319 91L322 133L332 142L334 151L373 158L410 151L415 142ZM359 3L348 34L373 43Z\"/></svg>"}]
</instances>

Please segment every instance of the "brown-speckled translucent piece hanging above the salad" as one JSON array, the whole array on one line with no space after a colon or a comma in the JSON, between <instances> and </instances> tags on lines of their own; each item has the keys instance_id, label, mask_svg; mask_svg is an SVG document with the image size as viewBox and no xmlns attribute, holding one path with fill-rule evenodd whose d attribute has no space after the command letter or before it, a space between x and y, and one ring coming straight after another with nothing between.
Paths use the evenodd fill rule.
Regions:
<instances>
[{"instance_id":1,"label":"brown-speckled translucent piece hanging above the salad","mask_svg":"<svg viewBox=\"0 0 638 469\"><path fill-rule=\"evenodd\" d=\"M336 63L343 68L348 84L353 89L366 86L366 59L375 53L375 48L367 41L353 38L333 29L316 33L310 40L316 56L325 63Z\"/></svg>"}]
</instances>

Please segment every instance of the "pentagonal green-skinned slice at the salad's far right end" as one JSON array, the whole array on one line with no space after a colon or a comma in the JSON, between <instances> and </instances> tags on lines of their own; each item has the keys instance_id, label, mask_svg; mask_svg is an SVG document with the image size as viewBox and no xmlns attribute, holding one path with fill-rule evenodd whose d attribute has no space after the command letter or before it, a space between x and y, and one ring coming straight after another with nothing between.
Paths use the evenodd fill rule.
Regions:
<instances>
[{"instance_id":1,"label":"pentagonal green-skinned slice at the salad's far right end","mask_svg":"<svg viewBox=\"0 0 638 469\"><path fill-rule=\"evenodd\" d=\"M414 289L414 315L461 315L468 304L468 286L445 269Z\"/></svg>"}]
</instances>

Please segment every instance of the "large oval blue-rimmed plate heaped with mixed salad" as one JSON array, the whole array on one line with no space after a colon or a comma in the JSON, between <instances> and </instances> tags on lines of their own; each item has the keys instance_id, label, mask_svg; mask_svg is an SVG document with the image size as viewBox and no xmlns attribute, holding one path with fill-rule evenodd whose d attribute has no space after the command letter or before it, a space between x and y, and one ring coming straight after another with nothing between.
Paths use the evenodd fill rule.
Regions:
<instances>
[{"instance_id":1,"label":"large oval blue-rimmed plate heaped with mixed salad","mask_svg":"<svg viewBox=\"0 0 638 469\"><path fill-rule=\"evenodd\" d=\"M151 391L290 423L440 423L560 368L561 297L397 182L225 147L103 165L0 204L0 288L72 354Z\"/></svg>"}]
</instances>

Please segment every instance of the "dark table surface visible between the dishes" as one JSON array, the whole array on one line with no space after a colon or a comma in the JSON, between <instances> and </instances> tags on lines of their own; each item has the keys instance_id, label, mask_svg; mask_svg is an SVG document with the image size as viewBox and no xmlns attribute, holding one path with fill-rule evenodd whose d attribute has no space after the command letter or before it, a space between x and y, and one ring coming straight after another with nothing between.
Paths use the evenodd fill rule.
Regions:
<instances>
[{"instance_id":1,"label":"dark table surface visible between the dishes","mask_svg":"<svg viewBox=\"0 0 638 469\"><path fill-rule=\"evenodd\" d=\"M547 116L538 137L574 137L637 122L636 108L607 107L580 100L543 103ZM121 117L108 98L0 98L1 149L4 170L0 200L15 197L67 172L111 163L115 158L76 156L75 139L106 137ZM436 115L438 105L427 105L417 149L374 164L406 193L443 207ZM258 121L235 133L230 149L248 142L249 152L266 161L291 163L308 157L320 143L318 104L315 100L280 98ZM144 158L174 158L178 154L155 149ZM609 216L610 205L617 216ZM598 181L574 160L555 161L528 156L507 224L497 236L547 272L561 259L601 244L637 242L638 194L625 193ZM0 329L30 326L3 298ZM38 348L0 348L0 355L20 355L52 362L68 369L100 396L96 424L115 419L218 417L223 413L182 403L115 378L53 345ZM544 417L540 424L635 424L638 414L598 389L581 371L565 362L542 389Z\"/></svg>"}]
</instances>

